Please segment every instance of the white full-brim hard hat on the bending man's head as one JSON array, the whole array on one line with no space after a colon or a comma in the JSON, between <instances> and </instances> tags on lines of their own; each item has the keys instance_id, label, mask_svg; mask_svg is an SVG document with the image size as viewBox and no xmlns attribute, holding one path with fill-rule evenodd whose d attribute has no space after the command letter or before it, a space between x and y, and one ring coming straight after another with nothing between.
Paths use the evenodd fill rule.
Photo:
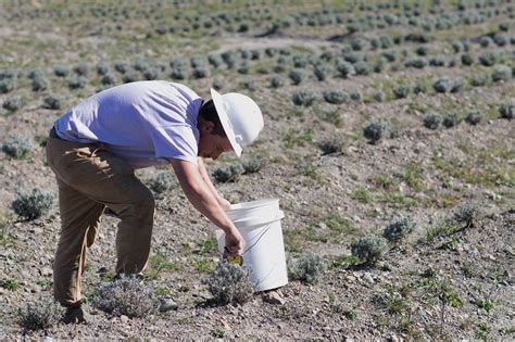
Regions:
<instances>
[{"instance_id":1,"label":"white full-brim hard hat on the bending man's head","mask_svg":"<svg viewBox=\"0 0 515 342\"><path fill-rule=\"evenodd\" d=\"M254 141L263 129L263 114L258 104L244 94L219 94L211 89L211 97L233 150L240 156L242 148Z\"/></svg>"}]
</instances>

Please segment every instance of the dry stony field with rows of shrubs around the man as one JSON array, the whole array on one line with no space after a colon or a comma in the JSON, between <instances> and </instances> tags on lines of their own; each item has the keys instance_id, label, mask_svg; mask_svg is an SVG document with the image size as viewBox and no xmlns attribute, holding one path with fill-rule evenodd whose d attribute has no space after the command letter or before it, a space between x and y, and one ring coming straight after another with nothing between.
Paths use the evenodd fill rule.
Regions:
<instances>
[{"instance_id":1,"label":"dry stony field with rows of shrubs around the man","mask_svg":"<svg viewBox=\"0 0 515 342\"><path fill-rule=\"evenodd\" d=\"M514 17L512 0L1 1L0 339L515 339ZM259 140L208 168L233 203L279 199L289 265L314 254L325 271L275 301L209 305L213 225L172 167L138 169L156 199L145 284L178 309L91 305L115 265L105 213L87 324L24 329L18 309L52 293L48 131L80 100L142 79L260 104ZM13 205L33 189L32 210ZM360 250L363 238L377 244Z\"/></svg>"}]
</instances>

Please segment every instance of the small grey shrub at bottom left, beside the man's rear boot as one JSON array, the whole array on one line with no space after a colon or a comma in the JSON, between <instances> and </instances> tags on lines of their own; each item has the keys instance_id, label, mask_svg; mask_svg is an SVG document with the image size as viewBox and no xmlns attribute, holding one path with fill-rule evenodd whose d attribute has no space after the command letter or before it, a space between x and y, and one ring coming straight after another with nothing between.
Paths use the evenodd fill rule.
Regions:
<instances>
[{"instance_id":1,"label":"small grey shrub at bottom left, beside the man's rear boot","mask_svg":"<svg viewBox=\"0 0 515 342\"><path fill-rule=\"evenodd\" d=\"M17 322L25 330L42 330L55 326L64 315L64 307L52 299L41 299L18 308Z\"/></svg>"}]
</instances>

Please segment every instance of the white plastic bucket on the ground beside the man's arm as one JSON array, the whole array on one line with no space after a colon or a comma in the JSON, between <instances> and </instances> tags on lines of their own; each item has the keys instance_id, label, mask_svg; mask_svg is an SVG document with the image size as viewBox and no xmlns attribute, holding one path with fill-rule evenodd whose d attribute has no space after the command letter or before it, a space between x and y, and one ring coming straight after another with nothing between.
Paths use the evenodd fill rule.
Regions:
<instances>
[{"instance_id":1,"label":"white plastic bucket on the ground beside the man's arm","mask_svg":"<svg viewBox=\"0 0 515 342\"><path fill-rule=\"evenodd\" d=\"M226 211L246 241L243 265L251 268L250 280L256 291L265 291L288 283L285 244L278 199L234 204ZM218 251L224 253L225 232L216 230Z\"/></svg>"}]
</instances>

